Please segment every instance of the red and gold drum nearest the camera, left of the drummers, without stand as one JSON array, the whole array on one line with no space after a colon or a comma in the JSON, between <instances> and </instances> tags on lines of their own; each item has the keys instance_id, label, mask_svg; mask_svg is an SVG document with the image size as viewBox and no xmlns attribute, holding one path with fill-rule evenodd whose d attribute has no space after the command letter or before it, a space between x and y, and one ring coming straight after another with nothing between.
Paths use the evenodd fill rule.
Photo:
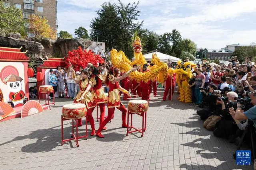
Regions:
<instances>
[{"instance_id":1,"label":"red and gold drum nearest the camera, left of the drummers, without stand","mask_svg":"<svg viewBox=\"0 0 256 170\"><path fill-rule=\"evenodd\" d=\"M85 104L81 103L72 103L65 104L62 107L62 115L65 119L80 119L85 117L87 113L87 109Z\"/></svg>"}]
</instances>

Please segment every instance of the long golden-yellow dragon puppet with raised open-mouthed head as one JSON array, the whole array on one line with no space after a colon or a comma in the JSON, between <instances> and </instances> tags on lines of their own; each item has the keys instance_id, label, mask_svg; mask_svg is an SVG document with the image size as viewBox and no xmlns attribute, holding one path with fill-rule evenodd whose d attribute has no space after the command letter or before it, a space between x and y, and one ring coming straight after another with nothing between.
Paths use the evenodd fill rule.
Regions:
<instances>
[{"instance_id":1,"label":"long golden-yellow dragon puppet with raised open-mouthed head","mask_svg":"<svg viewBox=\"0 0 256 170\"><path fill-rule=\"evenodd\" d=\"M138 36L134 36L134 42L132 43L133 49L134 49L134 61L130 61L124 54L123 51L117 51L116 49L112 49L110 51L110 57L112 65L118 69L120 69L121 72L127 72L128 70L132 69L133 65L136 64L137 66L146 64L146 59L142 55L142 45L140 38ZM156 56L156 54L152 55L152 61L151 63L154 64L150 68L150 71L148 72L131 72L129 74L131 80L136 80L136 82L144 81L148 82L148 80L154 81L155 78L158 79L158 82L162 83L167 78L167 70L168 66L166 63L160 62L159 58Z\"/></svg>"}]
</instances>

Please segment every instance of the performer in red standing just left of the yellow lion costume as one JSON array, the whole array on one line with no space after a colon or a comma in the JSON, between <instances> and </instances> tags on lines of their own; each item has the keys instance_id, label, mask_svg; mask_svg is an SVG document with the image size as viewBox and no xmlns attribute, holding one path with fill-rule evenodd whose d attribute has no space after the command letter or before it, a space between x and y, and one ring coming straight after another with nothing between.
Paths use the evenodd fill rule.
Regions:
<instances>
[{"instance_id":1,"label":"performer in red standing just left of the yellow lion costume","mask_svg":"<svg viewBox=\"0 0 256 170\"><path fill-rule=\"evenodd\" d=\"M168 70L168 77L165 82L165 90L164 90L164 97L163 97L164 101L166 100L169 90L170 90L170 95L168 97L169 100L172 100L172 96L174 93L174 84L175 84L175 76L176 75L174 73L174 70L172 72L172 71L170 71L170 69L173 70L173 68L169 68L169 70ZM172 74L170 74L170 72L172 72Z\"/></svg>"}]
</instances>

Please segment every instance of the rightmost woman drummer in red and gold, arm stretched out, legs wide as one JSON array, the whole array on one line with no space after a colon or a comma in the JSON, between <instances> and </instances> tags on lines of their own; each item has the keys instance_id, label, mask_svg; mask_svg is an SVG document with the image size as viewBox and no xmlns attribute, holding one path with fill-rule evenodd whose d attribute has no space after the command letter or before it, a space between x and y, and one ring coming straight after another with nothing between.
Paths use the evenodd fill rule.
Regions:
<instances>
[{"instance_id":1,"label":"rightmost woman drummer in red and gold, arm stretched out, legs wide","mask_svg":"<svg viewBox=\"0 0 256 170\"><path fill-rule=\"evenodd\" d=\"M117 107L118 110L122 111L122 127L127 128L126 124L126 114L127 109L120 101L120 95L119 90L122 91L124 94L127 94L128 96L131 96L130 92L125 90L120 86L118 83L120 80L126 78L130 72L136 71L136 68L132 68L128 72L124 73L122 76L119 77L120 71L118 68L111 68L108 72L108 75L106 77L105 83L109 86L109 92L108 92L108 117L101 123L98 131L96 132L96 136L100 138L104 138L104 136L101 134L101 131L103 127L112 119L114 116L115 108Z\"/></svg>"}]
</instances>

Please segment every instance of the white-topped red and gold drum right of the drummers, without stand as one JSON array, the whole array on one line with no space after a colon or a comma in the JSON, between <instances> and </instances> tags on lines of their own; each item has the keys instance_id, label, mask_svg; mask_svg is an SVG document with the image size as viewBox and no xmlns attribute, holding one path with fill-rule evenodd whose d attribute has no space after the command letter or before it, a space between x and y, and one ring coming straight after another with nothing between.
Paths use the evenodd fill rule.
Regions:
<instances>
[{"instance_id":1,"label":"white-topped red and gold drum right of the drummers, without stand","mask_svg":"<svg viewBox=\"0 0 256 170\"><path fill-rule=\"evenodd\" d=\"M146 100L130 100L128 102L128 111L131 113L144 113L148 111L148 102Z\"/></svg>"}]
</instances>

